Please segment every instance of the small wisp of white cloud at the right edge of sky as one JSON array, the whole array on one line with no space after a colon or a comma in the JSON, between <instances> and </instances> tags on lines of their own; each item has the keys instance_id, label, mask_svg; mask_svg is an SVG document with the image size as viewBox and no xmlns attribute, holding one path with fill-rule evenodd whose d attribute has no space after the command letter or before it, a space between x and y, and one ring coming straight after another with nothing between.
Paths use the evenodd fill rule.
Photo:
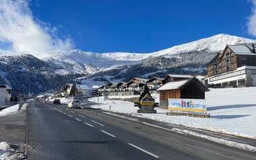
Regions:
<instances>
[{"instance_id":1,"label":"small wisp of white cloud at the right edge of sky","mask_svg":"<svg viewBox=\"0 0 256 160\"><path fill-rule=\"evenodd\" d=\"M256 0L250 0L250 2L252 3L253 8L251 9L252 14L247 22L248 33L256 36Z\"/></svg>"}]
</instances>

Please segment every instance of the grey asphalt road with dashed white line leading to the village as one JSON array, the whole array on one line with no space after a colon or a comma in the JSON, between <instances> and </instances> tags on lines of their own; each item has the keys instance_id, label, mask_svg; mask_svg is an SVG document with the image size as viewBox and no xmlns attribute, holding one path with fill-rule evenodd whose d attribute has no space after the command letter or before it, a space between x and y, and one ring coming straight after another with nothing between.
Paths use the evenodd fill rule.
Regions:
<instances>
[{"instance_id":1,"label":"grey asphalt road with dashed white line leading to the village","mask_svg":"<svg viewBox=\"0 0 256 160\"><path fill-rule=\"evenodd\" d=\"M72 112L71 112L72 111ZM256 153L101 110L28 106L28 159L255 159Z\"/></svg>"}]
</instances>

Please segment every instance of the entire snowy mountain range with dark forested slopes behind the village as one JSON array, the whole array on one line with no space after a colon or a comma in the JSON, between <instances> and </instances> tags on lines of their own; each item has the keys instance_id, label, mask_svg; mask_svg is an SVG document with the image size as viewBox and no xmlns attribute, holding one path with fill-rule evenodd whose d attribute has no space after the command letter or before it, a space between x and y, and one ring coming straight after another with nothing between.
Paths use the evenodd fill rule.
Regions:
<instances>
[{"instance_id":1,"label":"entire snowy mountain range with dark forested slopes behind the village","mask_svg":"<svg viewBox=\"0 0 256 160\"><path fill-rule=\"evenodd\" d=\"M166 74L206 75L207 64L226 44L248 44L256 40L218 34L158 52L95 53L82 50L51 51L49 54L8 56L0 53L0 84L38 93L63 87L78 79L88 87L133 77L164 77ZM100 82L98 82L100 79ZM36 82L36 83L32 83ZM32 86L33 84L33 86ZM30 86L30 87L29 87Z\"/></svg>"}]
</instances>

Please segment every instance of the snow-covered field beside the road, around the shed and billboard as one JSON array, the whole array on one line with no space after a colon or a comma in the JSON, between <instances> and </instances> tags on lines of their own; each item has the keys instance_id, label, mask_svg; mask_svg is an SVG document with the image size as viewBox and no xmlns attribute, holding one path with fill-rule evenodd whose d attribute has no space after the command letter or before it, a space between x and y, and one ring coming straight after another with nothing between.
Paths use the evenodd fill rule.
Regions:
<instances>
[{"instance_id":1,"label":"snow-covered field beside the road, around the shed and billboard","mask_svg":"<svg viewBox=\"0 0 256 160\"><path fill-rule=\"evenodd\" d=\"M159 102L159 95L155 94L156 102ZM113 97L109 97L113 98ZM137 108L133 103L123 100L108 100L104 102L100 97L100 105L94 108L102 108L125 114L132 114L144 118L202 128L216 132L224 132L236 136L256 138L256 87L230 88L230 89L210 89L205 93L207 110L211 114L210 118L193 118L187 116L166 116L168 110L156 108L157 114L137 114ZM92 102L97 102L97 97L90 98Z\"/></svg>"}]
</instances>

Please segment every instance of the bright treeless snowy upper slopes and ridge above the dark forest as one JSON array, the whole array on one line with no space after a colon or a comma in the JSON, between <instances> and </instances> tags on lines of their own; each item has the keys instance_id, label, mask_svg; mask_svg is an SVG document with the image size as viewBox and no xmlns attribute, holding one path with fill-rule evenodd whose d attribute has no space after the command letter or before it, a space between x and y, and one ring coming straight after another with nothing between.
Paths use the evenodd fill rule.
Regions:
<instances>
[{"instance_id":1,"label":"bright treeless snowy upper slopes and ridge above the dark forest","mask_svg":"<svg viewBox=\"0 0 256 160\"><path fill-rule=\"evenodd\" d=\"M187 44L181 44L179 46L173 46L157 52L140 54L130 52L85 52L82 50L68 50L63 52L51 52L44 55L34 55L38 58L51 60L53 62L64 65L70 63L71 65L77 65L77 71L81 73L84 71L84 67L87 68L86 73L95 73L96 71L108 70L117 68L120 65L131 65L139 63L146 58L154 58L158 56L171 57L177 56L177 54L188 52L216 52L223 50L226 44L249 44L255 43L256 40L247 38L241 38L238 36L230 36L228 34L218 34L210 38L203 38ZM51 57L51 58L50 58ZM92 67L94 66L94 67Z\"/></svg>"}]
</instances>

